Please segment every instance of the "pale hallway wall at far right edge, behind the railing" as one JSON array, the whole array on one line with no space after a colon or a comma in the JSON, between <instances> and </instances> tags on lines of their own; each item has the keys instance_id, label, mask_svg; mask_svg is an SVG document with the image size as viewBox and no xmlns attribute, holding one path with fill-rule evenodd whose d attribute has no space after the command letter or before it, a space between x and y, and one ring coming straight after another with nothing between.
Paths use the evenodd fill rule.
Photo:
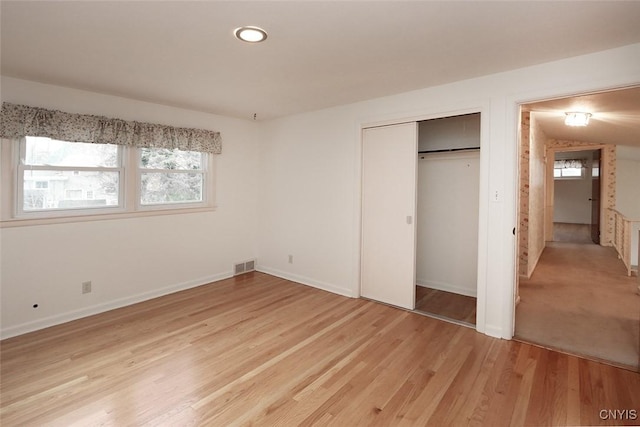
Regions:
<instances>
[{"instance_id":1,"label":"pale hallway wall at far right edge, behind the railing","mask_svg":"<svg viewBox=\"0 0 640 427\"><path fill-rule=\"evenodd\" d=\"M616 209L629 219L640 220L640 147L617 147ZM638 262L638 230L631 233L631 264Z\"/></svg>"}]
</instances>

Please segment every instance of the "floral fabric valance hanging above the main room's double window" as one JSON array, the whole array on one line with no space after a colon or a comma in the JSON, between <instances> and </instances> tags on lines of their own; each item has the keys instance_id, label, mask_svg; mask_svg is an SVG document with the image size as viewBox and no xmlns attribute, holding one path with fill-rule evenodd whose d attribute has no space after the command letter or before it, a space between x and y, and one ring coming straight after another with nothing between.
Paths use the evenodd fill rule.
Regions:
<instances>
[{"instance_id":1,"label":"floral fabric valance hanging above the main room's double window","mask_svg":"<svg viewBox=\"0 0 640 427\"><path fill-rule=\"evenodd\" d=\"M3 103L0 137L25 136L133 147L177 148L213 154L222 152L222 138L219 132Z\"/></svg>"}]
</instances>

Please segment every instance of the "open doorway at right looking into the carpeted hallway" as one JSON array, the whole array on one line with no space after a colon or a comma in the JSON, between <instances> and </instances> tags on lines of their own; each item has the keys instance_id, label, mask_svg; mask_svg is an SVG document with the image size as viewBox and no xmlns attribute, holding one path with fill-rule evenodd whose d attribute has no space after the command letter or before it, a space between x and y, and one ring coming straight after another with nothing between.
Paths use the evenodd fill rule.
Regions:
<instances>
[{"instance_id":1,"label":"open doorway at right looking into the carpeted hallway","mask_svg":"<svg viewBox=\"0 0 640 427\"><path fill-rule=\"evenodd\" d=\"M576 106L594 109L589 126L562 124ZM622 120L638 109L640 88L522 105L514 336L632 370L640 370L638 279L612 247L612 212L640 212L637 180L623 183L617 171L620 147L638 144L626 134L638 125Z\"/></svg>"}]
</instances>

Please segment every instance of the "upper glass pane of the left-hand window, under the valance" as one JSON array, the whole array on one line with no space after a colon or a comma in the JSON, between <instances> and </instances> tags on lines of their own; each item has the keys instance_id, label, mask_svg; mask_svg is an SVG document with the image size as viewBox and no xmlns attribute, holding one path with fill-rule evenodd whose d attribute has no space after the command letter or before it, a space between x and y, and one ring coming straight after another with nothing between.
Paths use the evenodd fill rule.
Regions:
<instances>
[{"instance_id":1,"label":"upper glass pane of the left-hand window, under the valance","mask_svg":"<svg viewBox=\"0 0 640 427\"><path fill-rule=\"evenodd\" d=\"M28 136L25 164L33 166L118 167L118 146L56 141Z\"/></svg>"}]
</instances>

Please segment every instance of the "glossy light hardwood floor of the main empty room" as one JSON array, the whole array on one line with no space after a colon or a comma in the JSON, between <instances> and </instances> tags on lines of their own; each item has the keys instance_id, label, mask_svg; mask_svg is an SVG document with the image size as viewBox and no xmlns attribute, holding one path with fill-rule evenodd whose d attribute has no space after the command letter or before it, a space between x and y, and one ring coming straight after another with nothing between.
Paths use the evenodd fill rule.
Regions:
<instances>
[{"instance_id":1,"label":"glossy light hardwood floor of the main empty room","mask_svg":"<svg viewBox=\"0 0 640 427\"><path fill-rule=\"evenodd\" d=\"M600 425L640 376L261 273L1 342L9 426Z\"/></svg>"}]
</instances>

